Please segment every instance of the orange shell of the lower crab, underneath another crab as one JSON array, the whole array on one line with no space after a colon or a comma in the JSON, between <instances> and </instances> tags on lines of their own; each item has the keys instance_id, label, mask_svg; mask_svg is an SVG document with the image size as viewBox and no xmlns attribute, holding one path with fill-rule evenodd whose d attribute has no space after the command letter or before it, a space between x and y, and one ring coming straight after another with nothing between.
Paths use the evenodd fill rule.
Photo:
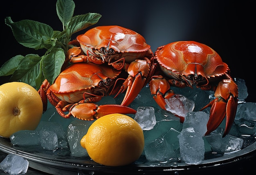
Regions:
<instances>
[{"instance_id":1,"label":"orange shell of the lower crab, underneath another crab","mask_svg":"<svg viewBox=\"0 0 256 175\"><path fill-rule=\"evenodd\" d=\"M61 72L49 89L60 100L77 103L83 96L88 97L84 92L104 96L120 72L106 65L76 63ZM111 83L107 83L110 80Z\"/></svg>"}]
</instances>

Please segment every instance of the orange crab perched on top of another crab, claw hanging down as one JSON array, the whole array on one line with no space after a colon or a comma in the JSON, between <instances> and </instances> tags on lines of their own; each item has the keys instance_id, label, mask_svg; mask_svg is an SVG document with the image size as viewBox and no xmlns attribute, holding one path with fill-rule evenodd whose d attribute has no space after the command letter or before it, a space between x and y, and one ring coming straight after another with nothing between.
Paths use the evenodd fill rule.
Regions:
<instances>
[{"instance_id":1,"label":"orange crab perched on top of another crab, claw hanging down","mask_svg":"<svg viewBox=\"0 0 256 175\"><path fill-rule=\"evenodd\" d=\"M121 105L128 106L146 85L154 56L143 36L130 29L117 26L98 26L70 42L67 58L71 63L108 63L117 70L128 72L119 92L126 91Z\"/></svg>"}]
</instances>

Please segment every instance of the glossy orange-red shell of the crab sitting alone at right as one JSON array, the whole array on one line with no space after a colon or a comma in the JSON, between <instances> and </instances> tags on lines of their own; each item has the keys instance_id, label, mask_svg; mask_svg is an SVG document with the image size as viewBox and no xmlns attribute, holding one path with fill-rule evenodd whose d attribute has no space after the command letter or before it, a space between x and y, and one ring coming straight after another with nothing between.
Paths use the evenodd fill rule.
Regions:
<instances>
[{"instance_id":1,"label":"glossy orange-red shell of the crab sitting alone at right","mask_svg":"<svg viewBox=\"0 0 256 175\"><path fill-rule=\"evenodd\" d=\"M176 78L180 74L183 78L201 75L209 79L229 71L228 65L222 62L217 52L195 41L169 43L157 49L155 55L163 72Z\"/></svg>"}]
</instances>

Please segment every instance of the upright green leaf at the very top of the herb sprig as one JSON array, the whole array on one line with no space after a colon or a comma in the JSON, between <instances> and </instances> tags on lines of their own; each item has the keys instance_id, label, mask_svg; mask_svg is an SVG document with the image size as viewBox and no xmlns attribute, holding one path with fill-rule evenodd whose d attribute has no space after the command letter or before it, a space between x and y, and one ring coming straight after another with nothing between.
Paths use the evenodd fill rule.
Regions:
<instances>
[{"instance_id":1,"label":"upright green leaf at the very top of the herb sprig","mask_svg":"<svg viewBox=\"0 0 256 175\"><path fill-rule=\"evenodd\" d=\"M57 0L56 11L58 18L61 20L63 29L67 22L72 18L74 14L75 3L73 0Z\"/></svg>"}]
</instances>

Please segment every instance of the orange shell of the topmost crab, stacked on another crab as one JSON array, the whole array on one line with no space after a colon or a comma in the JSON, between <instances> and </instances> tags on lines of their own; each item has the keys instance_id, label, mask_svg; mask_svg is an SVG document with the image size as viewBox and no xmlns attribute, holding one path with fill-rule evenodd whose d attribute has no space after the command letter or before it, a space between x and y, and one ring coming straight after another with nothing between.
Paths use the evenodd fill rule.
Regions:
<instances>
[{"instance_id":1,"label":"orange shell of the topmost crab, stacked on another crab","mask_svg":"<svg viewBox=\"0 0 256 175\"><path fill-rule=\"evenodd\" d=\"M85 54L100 57L94 49L112 48L115 53L123 53L122 57L125 57L127 63L143 57L150 49L150 45L146 43L143 36L117 25L94 27L85 34L77 36L76 39ZM105 61L108 62L108 60Z\"/></svg>"}]
</instances>

